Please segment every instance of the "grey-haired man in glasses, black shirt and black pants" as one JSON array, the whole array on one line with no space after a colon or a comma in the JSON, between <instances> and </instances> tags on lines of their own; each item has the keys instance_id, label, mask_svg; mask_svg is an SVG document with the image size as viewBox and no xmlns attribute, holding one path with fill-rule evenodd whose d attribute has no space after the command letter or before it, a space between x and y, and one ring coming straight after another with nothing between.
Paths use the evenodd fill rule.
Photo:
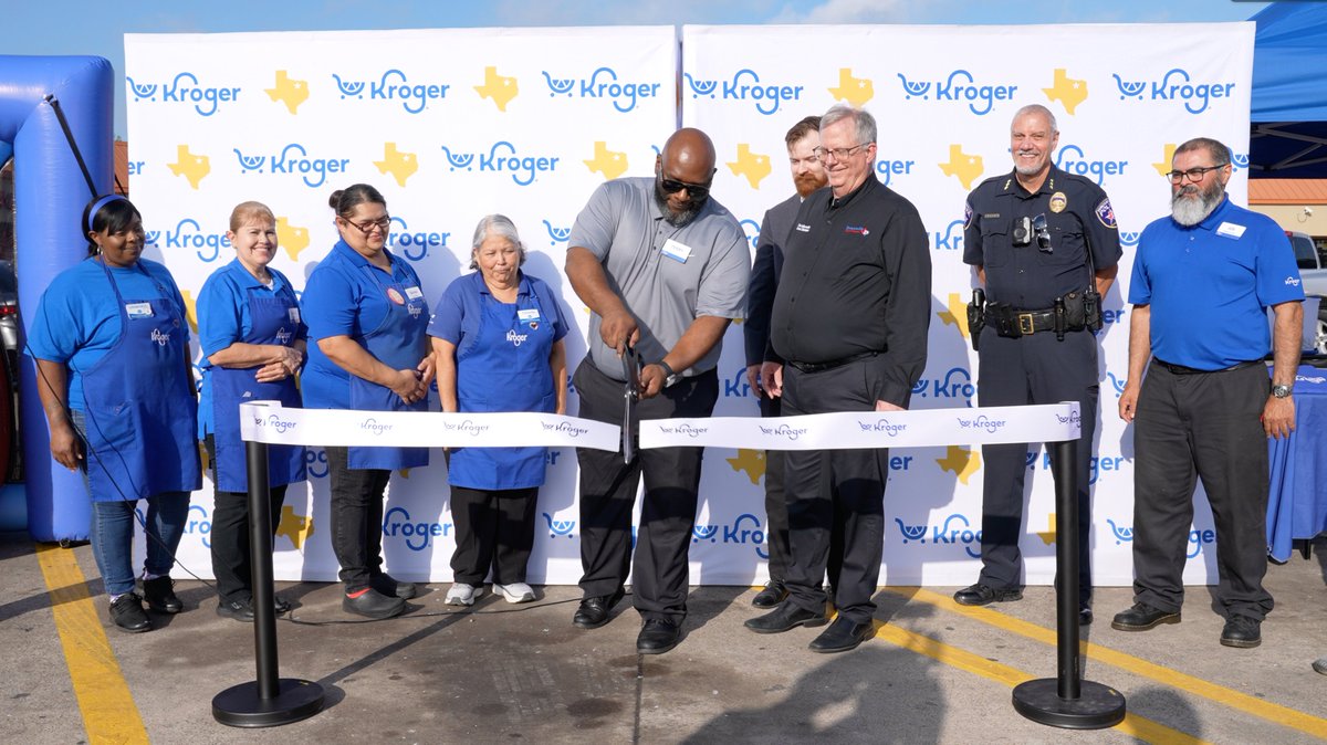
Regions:
<instances>
[{"instance_id":1,"label":"grey-haired man in glasses, black shirt and black pants","mask_svg":"<svg viewBox=\"0 0 1327 745\"><path fill-rule=\"evenodd\" d=\"M876 179L876 121L839 105L820 119L817 150L829 190L798 212L770 322L786 361L767 386L783 414L902 411L926 366L930 257L917 208ZM786 463L790 562L787 602L746 622L760 634L827 620L829 536L843 530L835 585L839 618L815 652L857 647L872 631L871 597L884 547L889 451L790 451Z\"/></svg>"}]
</instances>

